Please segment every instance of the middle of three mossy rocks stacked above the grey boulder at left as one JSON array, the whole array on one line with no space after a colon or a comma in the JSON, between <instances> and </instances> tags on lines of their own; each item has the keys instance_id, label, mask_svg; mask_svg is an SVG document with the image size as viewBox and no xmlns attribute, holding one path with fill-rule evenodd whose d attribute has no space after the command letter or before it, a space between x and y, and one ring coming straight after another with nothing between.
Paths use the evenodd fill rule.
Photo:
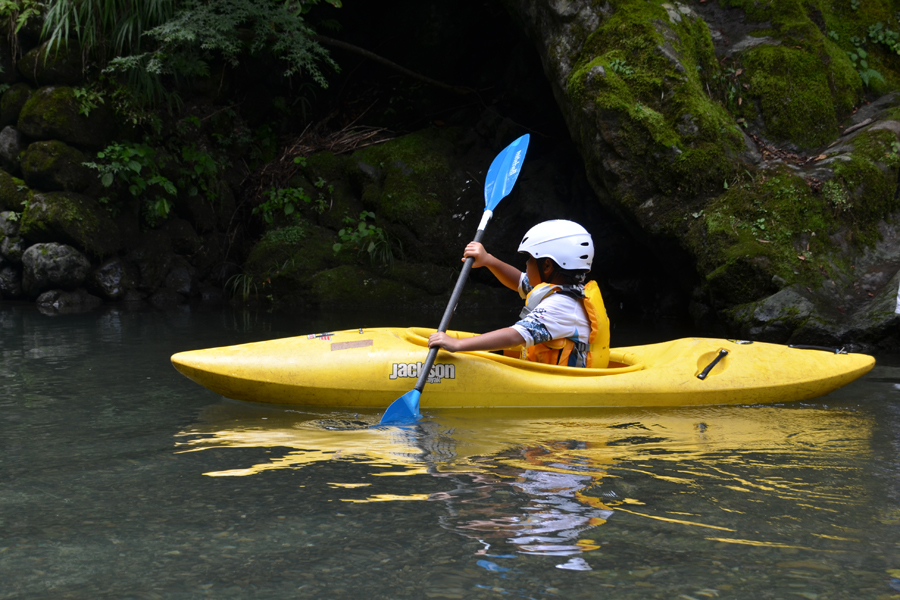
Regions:
<instances>
[{"instance_id":1,"label":"middle of three mossy rocks stacked above the grey boulder at left","mask_svg":"<svg viewBox=\"0 0 900 600\"><path fill-rule=\"evenodd\" d=\"M34 142L22 153L22 177L41 191L82 192L95 179L86 161L81 151L58 140Z\"/></svg>"}]
</instances>

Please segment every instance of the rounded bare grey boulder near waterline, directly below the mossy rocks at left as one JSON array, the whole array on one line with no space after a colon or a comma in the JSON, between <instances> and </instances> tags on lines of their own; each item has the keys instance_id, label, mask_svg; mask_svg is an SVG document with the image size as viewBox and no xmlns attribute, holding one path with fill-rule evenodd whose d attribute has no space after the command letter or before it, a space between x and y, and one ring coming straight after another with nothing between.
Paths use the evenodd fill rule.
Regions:
<instances>
[{"instance_id":1,"label":"rounded bare grey boulder near waterline, directly below the mossy rocks at left","mask_svg":"<svg viewBox=\"0 0 900 600\"><path fill-rule=\"evenodd\" d=\"M90 261L65 244L35 244L22 255L22 287L31 296L48 289L74 290L90 272Z\"/></svg>"}]
</instances>

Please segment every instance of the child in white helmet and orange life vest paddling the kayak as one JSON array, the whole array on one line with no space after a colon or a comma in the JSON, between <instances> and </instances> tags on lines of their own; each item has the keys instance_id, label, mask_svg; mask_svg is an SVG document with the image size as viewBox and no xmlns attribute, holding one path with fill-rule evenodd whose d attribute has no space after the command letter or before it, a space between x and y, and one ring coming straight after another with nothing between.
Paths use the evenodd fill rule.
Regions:
<instances>
[{"instance_id":1,"label":"child in white helmet and orange life vest paddling the kayak","mask_svg":"<svg viewBox=\"0 0 900 600\"><path fill-rule=\"evenodd\" d=\"M463 260L474 258L474 268L487 267L500 283L519 292L525 299L520 320L468 338L433 333L428 346L450 352L524 347L521 356L534 362L605 368L609 319L597 283L584 283L594 259L591 235L572 221L545 221L528 230L519 252L528 255L524 273L477 242L466 246Z\"/></svg>"}]
</instances>

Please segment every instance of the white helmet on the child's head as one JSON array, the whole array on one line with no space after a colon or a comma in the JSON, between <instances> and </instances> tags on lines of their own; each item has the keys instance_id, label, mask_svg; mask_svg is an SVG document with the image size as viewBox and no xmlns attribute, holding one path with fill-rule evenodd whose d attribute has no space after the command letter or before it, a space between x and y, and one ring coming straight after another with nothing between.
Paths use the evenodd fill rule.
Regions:
<instances>
[{"instance_id":1,"label":"white helmet on the child's head","mask_svg":"<svg viewBox=\"0 0 900 600\"><path fill-rule=\"evenodd\" d=\"M591 270L594 242L587 230L572 221L544 221L528 230L519 252L534 258L552 258L566 271Z\"/></svg>"}]
</instances>

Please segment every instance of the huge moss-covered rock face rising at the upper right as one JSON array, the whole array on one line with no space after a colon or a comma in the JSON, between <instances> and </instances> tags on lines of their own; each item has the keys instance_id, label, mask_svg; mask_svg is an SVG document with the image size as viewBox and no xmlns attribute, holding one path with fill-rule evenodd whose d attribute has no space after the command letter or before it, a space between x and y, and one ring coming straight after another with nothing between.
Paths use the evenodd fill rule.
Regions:
<instances>
[{"instance_id":1,"label":"huge moss-covered rock face rising at the upper right","mask_svg":"<svg viewBox=\"0 0 900 600\"><path fill-rule=\"evenodd\" d=\"M900 209L900 108L892 94L864 104L880 74L848 54L857 36L869 68L900 74L867 33L875 12L504 2L598 198L694 287L694 314L760 339L897 343L893 308L872 307L897 293L900 248L879 240Z\"/></svg>"}]
</instances>

